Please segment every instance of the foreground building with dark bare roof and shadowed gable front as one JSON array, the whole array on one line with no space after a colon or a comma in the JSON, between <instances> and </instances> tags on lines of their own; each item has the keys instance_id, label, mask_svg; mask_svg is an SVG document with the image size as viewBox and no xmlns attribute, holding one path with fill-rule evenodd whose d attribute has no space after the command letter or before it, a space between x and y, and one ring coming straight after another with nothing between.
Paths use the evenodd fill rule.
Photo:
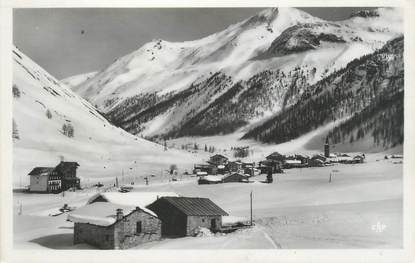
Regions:
<instances>
[{"instance_id":1,"label":"foreground building with dark bare roof and shadowed gable front","mask_svg":"<svg viewBox=\"0 0 415 263\"><path fill-rule=\"evenodd\" d=\"M222 216L228 215L210 199L199 197L162 197L147 208L161 219L163 236L191 236L200 227L216 232Z\"/></svg>"}]
</instances>

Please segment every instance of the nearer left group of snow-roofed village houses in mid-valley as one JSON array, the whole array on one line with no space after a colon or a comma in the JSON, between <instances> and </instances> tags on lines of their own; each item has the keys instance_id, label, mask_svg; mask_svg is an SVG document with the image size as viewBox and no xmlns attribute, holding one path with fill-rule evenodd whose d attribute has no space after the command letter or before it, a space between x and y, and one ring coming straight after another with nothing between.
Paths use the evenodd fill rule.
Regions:
<instances>
[{"instance_id":1,"label":"nearer left group of snow-roofed village houses in mid-valley","mask_svg":"<svg viewBox=\"0 0 415 263\"><path fill-rule=\"evenodd\" d=\"M199 177L199 184L248 182L249 177L259 173L255 163L229 161L221 154L211 156L206 164L196 164L193 169L193 174Z\"/></svg>"}]
</instances>

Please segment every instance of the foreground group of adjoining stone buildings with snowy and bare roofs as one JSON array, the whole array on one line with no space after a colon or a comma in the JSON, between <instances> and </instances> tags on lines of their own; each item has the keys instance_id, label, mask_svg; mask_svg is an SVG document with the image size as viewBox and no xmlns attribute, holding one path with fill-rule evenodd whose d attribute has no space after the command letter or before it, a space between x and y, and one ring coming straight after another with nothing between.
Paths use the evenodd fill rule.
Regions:
<instances>
[{"instance_id":1,"label":"foreground group of adjoining stone buildings with snowy and bare roofs","mask_svg":"<svg viewBox=\"0 0 415 263\"><path fill-rule=\"evenodd\" d=\"M100 193L68 215L74 222L74 243L101 249L127 249L162 237L193 236L201 228L219 232L229 224L247 224L232 218L208 198L169 192Z\"/></svg>"}]
</instances>

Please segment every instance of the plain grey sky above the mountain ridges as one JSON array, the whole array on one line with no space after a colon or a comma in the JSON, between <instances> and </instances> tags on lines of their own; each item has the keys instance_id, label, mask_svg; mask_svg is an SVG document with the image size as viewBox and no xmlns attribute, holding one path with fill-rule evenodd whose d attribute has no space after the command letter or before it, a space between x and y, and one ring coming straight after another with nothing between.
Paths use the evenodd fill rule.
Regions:
<instances>
[{"instance_id":1,"label":"plain grey sky above the mountain ridges","mask_svg":"<svg viewBox=\"0 0 415 263\"><path fill-rule=\"evenodd\" d=\"M19 8L13 42L58 79L97 71L153 39L186 41L221 31L264 8ZM343 20L359 7L300 8Z\"/></svg>"}]
</instances>

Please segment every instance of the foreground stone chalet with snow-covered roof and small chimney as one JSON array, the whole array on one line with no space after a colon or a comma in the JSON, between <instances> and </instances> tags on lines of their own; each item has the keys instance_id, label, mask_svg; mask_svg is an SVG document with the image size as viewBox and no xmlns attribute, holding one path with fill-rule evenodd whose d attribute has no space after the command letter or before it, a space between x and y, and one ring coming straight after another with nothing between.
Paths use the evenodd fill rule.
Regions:
<instances>
[{"instance_id":1,"label":"foreground stone chalet with snow-covered roof and small chimney","mask_svg":"<svg viewBox=\"0 0 415 263\"><path fill-rule=\"evenodd\" d=\"M127 249L161 238L161 221L148 209L95 202L68 216L74 225L74 244L101 249Z\"/></svg>"}]
</instances>

